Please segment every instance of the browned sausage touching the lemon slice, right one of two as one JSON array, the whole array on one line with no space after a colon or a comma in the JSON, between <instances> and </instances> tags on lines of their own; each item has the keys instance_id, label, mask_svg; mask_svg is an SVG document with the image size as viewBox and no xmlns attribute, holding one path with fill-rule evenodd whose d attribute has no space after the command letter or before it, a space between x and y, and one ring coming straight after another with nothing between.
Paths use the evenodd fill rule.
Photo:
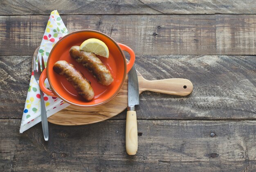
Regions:
<instances>
[{"instance_id":1,"label":"browned sausage touching the lemon slice, right one of two","mask_svg":"<svg viewBox=\"0 0 256 172\"><path fill-rule=\"evenodd\" d=\"M82 63L84 67L87 67L102 85L110 85L113 82L114 79L108 68L95 54L79 50L79 46L72 46L70 48L70 55L77 62Z\"/></svg>"}]
</instances>

